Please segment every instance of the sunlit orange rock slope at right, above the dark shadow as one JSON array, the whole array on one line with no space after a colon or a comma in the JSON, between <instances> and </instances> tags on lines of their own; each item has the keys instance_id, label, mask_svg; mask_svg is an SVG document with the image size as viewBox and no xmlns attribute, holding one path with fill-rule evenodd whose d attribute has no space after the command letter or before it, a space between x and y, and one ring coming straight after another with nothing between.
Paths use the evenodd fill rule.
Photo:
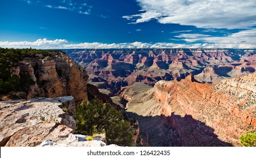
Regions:
<instances>
[{"instance_id":1,"label":"sunlit orange rock slope at right, above the dark shadow","mask_svg":"<svg viewBox=\"0 0 256 158\"><path fill-rule=\"evenodd\" d=\"M256 129L255 84L255 74L223 80L214 86L193 82L193 76L190 76L180 82L159 83L154 90L155 98L168 104L164 111L181 117L192 116L212 128L220 140L240 146L240 135ZM159 97L166 93L168 97ZM173 129L184 133L183 120L171 118ZM181 139L180 143L186 145L188 140Z\"/></svg>"}]
</instances>

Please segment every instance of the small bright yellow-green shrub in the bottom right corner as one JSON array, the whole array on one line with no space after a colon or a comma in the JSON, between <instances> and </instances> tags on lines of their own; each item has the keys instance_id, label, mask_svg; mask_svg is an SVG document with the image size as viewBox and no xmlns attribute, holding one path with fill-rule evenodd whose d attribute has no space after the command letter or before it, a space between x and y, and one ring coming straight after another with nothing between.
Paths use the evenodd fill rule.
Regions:
<instances>
[{"instance_id":1,"label":"small bright yellow-green shrub in the bottom right corner","mask_svg":"<svg viewBox=\"0 0 256 158\"><path fill-rule=\"evenodd\" d=\"M256 132L249 131L240 137L240 141L245 147L256 147Z\"/></svg>"}]
</instances>

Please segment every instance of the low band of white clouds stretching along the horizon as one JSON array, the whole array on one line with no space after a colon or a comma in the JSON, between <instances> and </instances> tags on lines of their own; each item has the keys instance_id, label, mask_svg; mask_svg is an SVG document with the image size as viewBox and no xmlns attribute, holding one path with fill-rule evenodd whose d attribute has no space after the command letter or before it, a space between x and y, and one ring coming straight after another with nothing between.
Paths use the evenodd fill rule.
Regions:
<instances>
[{"instance_id":1,"label":"low band of white clouds stretching along the horizon","mask_svg":"<svg viewBox=\"0 0 256 158\"><path fill-rule=\"evenodd\" d=\"M136 48L230 48L230 49L256 49L256 29L242 30L238 33L230 34L226 37L210 37L206 34L180 34L176 36L175 41L184 40L193 42L191 44L184 43L71 43L66 39L48 40L37 39L34 42L0 42L3 48L35 48L35 49L136 49ZM200 42L197 42L200 41ZM203 41L203 43L202 43Z\"/></svg>"}]
</instances>

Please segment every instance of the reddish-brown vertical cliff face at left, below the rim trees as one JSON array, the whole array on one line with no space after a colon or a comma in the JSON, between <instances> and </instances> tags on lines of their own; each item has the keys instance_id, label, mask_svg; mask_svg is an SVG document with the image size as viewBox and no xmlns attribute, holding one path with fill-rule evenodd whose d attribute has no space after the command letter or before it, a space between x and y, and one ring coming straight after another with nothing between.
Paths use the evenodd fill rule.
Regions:
<instances>
[{"instance_id":1,"label":"reddish-brown vertical cliff face at left, below the rim trees","mask_svg":"<svg viewBox=\"0 0 256 158\"><path fill-rule=\"evenodd\" d=\"M75 97L76 104L88 100L86 72L62 51L53 52L45 58L42 55L23 58L12 70L18 76L28 74L34 81L26 99L35 96L55 98L71 95Z\"/></svg>"}]
</instances>

